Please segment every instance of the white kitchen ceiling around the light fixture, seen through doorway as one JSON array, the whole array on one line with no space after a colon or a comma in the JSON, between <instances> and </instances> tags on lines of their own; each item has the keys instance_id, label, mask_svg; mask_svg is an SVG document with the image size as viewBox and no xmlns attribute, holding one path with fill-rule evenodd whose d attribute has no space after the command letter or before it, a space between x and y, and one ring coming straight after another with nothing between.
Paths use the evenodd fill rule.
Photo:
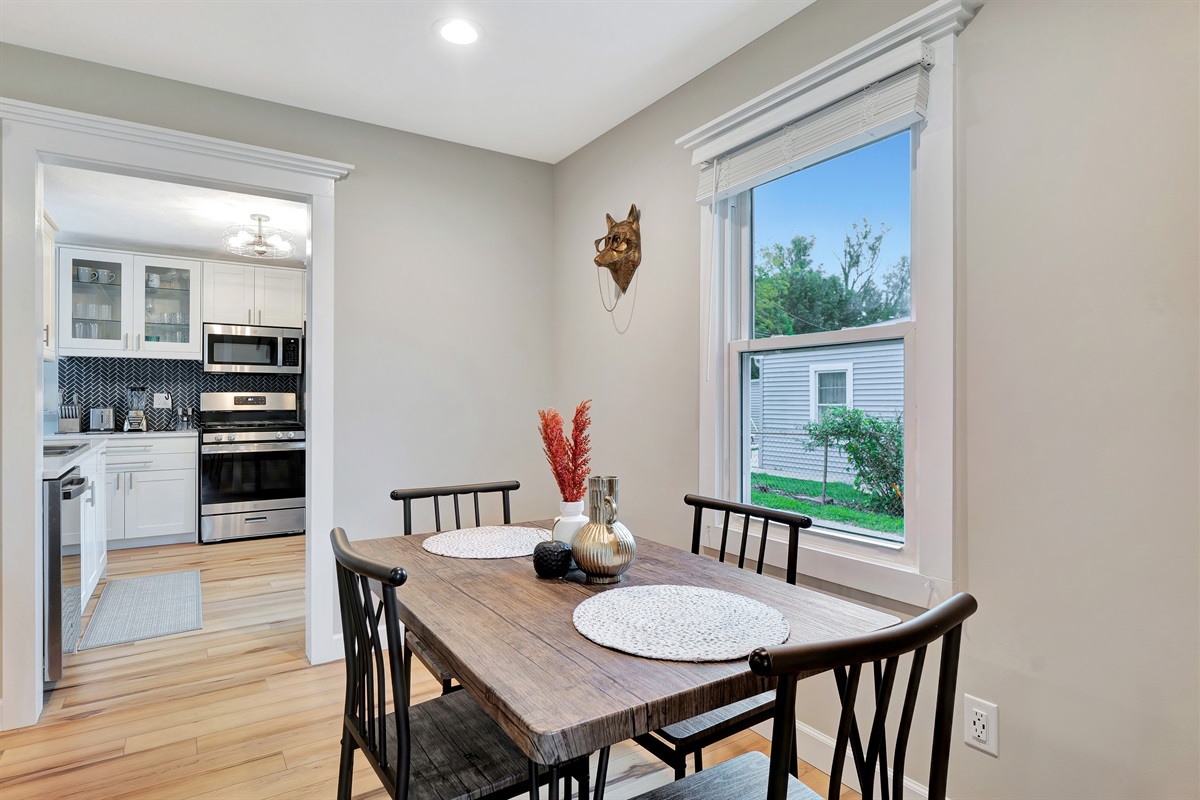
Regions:
<instances>
[{"instance_id":1,"label":"white kitchen ceiling around the light fixture, seen through doorway","mask_svg":"<svg viewBox=\"0 0 1200 800\"><path fill-rule=\"evenodd\" d=\"M59 227L60 245L90 245L223 261L305 265L308 206L292 200L238 194L202 186L96 173L47 164L44 204ZM266 225L283 228L296 241L286 259L251 259L224 249L226 228L253 224L265 213Z\"/></svg>"}]
</instances>

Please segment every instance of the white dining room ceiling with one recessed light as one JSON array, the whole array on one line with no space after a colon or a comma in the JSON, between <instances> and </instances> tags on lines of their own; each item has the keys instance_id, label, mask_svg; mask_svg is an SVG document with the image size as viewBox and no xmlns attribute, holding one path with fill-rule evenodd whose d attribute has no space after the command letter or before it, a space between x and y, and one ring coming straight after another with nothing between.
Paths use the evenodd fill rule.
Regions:
<instances>
[{"instance_id":1,"label":"white dining room ceiling with one recessed light","mask_svg":"<svg viewBox=\"0 0 1200 800\"><path fill-rule=\"evenodd\" d=\"M556 163L810 2L0 0L0 41Z\"/></svg>"}]
</instances>

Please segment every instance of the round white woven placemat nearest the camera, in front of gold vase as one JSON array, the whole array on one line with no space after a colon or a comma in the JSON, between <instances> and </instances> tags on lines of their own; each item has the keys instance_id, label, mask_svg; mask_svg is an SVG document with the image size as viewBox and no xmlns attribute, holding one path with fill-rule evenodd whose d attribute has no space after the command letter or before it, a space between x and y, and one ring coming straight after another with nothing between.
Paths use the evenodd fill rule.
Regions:
<instances>
[{"instance_id":1,"label":"round white woven placemat nearest the camera, in front of gold vase","mask_svg":"<svg viewBox=\"0 0 1200 800\"><path fill-rule=\"evenodd\" d=\"M625 587L575 607L575 630L613 650L662 661L732 661L787 640L778 610L702 587Z\"/></svg>"}]
</instances>

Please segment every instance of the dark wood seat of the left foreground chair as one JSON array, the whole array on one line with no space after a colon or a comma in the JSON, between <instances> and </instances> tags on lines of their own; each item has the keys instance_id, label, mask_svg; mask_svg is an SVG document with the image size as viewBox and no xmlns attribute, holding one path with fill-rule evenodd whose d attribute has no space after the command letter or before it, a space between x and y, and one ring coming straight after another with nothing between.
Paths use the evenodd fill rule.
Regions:
<instances>
[{"instance_id":1,"label":"dark wood seat of the left foreground chair","mask_svg":"<svg viewBox=\"0 0 1200 800\"><path fill-rule=\"evenodd\" d=\"M409 800L478 800L528 792L529 759L467 692L442 694L408 709L412 733ZM356 721L355 721L356 724ZM396 715L385 721L396 750Z\"/></svg>"}]
</instances>

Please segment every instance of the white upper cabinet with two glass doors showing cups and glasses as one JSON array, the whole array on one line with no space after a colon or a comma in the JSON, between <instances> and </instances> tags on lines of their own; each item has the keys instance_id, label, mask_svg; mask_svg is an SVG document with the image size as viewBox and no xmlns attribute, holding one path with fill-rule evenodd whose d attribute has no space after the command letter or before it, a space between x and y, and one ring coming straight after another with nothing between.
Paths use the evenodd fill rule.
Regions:
<instances>
[{"instance_id":1,"label":"white upper cabinet with two glass doors showing cups and glasses","mask_svg":"<svg viewBox=\"0 0 1200 800\"><path fill-rule=\"evenodd\" d=\"M59 353L199 359L200 263L59 248Z\"/></svg>"}]
</instances>

